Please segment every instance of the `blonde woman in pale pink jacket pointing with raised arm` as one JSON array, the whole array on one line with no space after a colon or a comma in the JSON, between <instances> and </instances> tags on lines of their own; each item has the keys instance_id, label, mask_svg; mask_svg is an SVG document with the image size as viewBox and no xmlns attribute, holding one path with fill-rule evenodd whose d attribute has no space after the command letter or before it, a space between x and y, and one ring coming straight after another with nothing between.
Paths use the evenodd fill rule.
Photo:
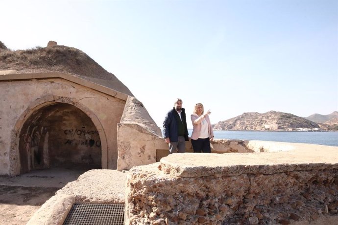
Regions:
<instances>
[{"instance_id":1,"label":"blonde woman in pale pink jacket pointing with raised arm","mask_svg":"<svg viewBox=\"0 0 338 225\"><path fill-rule=\"evenodd\" d=\"M208 112L204 113L201 103L195 105L191 119L193 122L193 134L191 136L193 151L200 153L211 153L210 140L214 140L214 131L211 126Z\"/></svg>"}]
</instances>

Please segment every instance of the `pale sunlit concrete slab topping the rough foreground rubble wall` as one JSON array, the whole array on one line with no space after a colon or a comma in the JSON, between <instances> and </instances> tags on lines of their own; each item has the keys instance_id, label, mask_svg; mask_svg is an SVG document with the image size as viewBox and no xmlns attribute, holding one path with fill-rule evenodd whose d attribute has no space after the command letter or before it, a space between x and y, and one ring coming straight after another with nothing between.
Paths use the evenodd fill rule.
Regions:
<instances>
[{"instance_id":1,"label":"pale sunlit concrete slab topping the rough foreground rubble wall","mask_svg":"<svg viewBox=\"0 0 338 225\"><path fill-rule=\"evenodd\" d=\"M294 150L274 153L185 153L182 157L169 155L161 159L159 170L187 178L338 168L338 147L288 144Z\"/></svg>"}]
</instances>

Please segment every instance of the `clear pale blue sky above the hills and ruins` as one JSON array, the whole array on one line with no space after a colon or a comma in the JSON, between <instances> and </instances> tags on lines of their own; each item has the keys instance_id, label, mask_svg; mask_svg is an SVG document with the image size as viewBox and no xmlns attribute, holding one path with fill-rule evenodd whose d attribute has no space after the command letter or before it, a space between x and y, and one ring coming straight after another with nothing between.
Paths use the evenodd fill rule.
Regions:
<instances>
[{"instance_id":1,"label":"clear pale blue sky above the hills and ruins","mask_svg":"<svg viewBox=\"0 0 338 225\"><path fill-rule=\"evenodd\" d=\"M0 24L12 50L84 51L160 127L177 97L212 123L338 111L337 0L2 0Z\"/></svg>"}]
</instances>

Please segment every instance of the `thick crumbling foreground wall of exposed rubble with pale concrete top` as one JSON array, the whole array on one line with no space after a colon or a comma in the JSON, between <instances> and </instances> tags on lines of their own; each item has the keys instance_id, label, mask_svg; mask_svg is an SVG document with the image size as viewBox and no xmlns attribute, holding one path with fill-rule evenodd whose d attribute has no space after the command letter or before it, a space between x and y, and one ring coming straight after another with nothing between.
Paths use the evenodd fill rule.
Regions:
<instances>
[{"instance_id":1,"label":"thick crumbling foreground wall of exposed rubble with pale concrete top","mask_svg":"<svg viewBox=\"0 0 338 225\"><path fill-rule=\"evenodd\" d=\"M126 224L294 224L338 215L338 148L173 154L127 176Z\"/></svg>"}]
</instances>

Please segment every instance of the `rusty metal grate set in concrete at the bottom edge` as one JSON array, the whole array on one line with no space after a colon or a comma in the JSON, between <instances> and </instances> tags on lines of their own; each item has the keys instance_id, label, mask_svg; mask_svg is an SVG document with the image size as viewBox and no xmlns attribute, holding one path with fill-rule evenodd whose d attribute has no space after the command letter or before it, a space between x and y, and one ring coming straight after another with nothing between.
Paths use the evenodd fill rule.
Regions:
<instances>
[{"instance_id":1,"label":"rusty metal grate set in concrete at the bottom edge","mask_svg":"<svg viewBox=\"0 0 338 225\"><path fill-rule=\"evenodd\" d=\"M124 225L124 204L74 203L64 225Z\"/></svg>"}]
</instances>

